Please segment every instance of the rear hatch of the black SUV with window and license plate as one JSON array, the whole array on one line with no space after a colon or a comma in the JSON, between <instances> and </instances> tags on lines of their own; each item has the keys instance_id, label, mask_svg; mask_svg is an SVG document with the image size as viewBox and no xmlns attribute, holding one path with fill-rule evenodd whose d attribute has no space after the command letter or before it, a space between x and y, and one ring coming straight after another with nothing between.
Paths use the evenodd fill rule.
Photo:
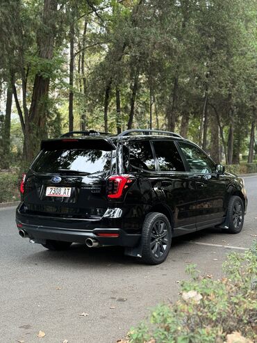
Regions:
<instances>
[{"instance_id":1,"label":"rear hatch of the black SUV with window and license plate","mask_svg":"<svg viewBox=\"0 0 257 343\"><path fill-rule=\"evenodd\" d=\"M115 168L115 145L104 138L42 142L26 175L28 214L59 218L101 218L108 208L106 177Z\"/></svg>"}]
</instances>

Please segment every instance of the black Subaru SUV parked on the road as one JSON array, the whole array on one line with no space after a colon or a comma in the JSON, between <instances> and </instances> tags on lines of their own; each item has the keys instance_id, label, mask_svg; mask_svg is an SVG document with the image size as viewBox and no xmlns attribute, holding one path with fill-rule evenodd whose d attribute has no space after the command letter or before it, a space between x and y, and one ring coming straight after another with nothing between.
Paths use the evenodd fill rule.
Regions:
<instances>
[{"instance_id":1,"label":"black Subaru SUV parked on the road","mask_svg":"<svg viewBox=\"0 0 257 343\"><path fill-rule=\"evenodd\" d=\"M42 141L20 191L22 237L50 250L124 246L149 264L166 259L172 237L214 226L240 232L247 209L240 177L160 130L72 131Z\"/></svg>"}]
</instances>

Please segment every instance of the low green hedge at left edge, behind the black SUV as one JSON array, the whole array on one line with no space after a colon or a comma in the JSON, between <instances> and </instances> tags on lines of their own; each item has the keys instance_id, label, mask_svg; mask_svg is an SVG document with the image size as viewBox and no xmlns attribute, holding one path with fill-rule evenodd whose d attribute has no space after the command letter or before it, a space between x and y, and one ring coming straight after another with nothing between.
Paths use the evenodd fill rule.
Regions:
<instances>
[{"instance_id":1,"label":"low green hedge at left edge, behind the black SUV","mask_svg":"<svg viewBox=\"0 0 257 343\"><path fill-rule=\"evenodd\" d=\"M0 172L0 203L19 200L18 180L16 171Z\"/></svg>"}]
</instances>

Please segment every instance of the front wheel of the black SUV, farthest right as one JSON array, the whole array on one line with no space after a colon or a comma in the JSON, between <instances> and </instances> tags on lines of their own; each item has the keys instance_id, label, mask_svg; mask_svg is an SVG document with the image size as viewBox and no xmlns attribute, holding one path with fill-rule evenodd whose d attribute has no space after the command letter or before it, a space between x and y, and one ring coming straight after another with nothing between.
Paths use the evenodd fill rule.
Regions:
<instances>
[{"instance_id":1,"label":"front wheel of the black SUV, farthest right","mask_svg":"<svg viewBox=\"0 0 257 343\"><path fill-rule=\"evenodd\" d=\"M239 196L231 196L226 216L229 223L229 230L226 232L231 234L241 232L244 225L244 204Z\"/></svg>"}]
</instances>

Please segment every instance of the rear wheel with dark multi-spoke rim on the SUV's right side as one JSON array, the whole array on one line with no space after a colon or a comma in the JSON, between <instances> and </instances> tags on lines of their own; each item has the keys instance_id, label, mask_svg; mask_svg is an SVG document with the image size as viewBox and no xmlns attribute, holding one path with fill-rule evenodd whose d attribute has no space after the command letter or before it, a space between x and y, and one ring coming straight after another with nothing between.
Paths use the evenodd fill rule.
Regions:
<instances>
[{"instance_id":1,"label":"rear wheel with dark multi-spoke rim on the SUV's right side","mask_svg":"<svg viewBox=\"0 0 257 343\"><path fill-rule=\"evenodd\" d=\"M144 219L142 228L142 262L160 264L169 254L172 244L172 227L167 216L151 212Z\"/></svg>"}]
</instances>

